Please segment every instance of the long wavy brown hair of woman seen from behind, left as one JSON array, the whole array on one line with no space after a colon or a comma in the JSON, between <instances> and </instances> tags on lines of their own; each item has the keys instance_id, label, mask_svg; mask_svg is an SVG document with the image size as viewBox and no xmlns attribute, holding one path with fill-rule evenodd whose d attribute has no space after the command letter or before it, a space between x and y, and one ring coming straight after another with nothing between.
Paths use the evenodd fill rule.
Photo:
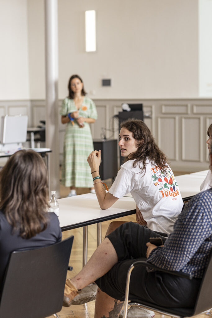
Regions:
<instances>
[{"instance_id":1,"label":"long wavy brown hair of woman seen from behind, left","mask_svg":"<svg viewBox=\"0 0 212 318\"><path fill-rule=\"evenodd\" d=\"M48 178L41 156L19 150L0 172L0 209L14 230L29 239L48 224Z\"/></svg>"}]
</instances>

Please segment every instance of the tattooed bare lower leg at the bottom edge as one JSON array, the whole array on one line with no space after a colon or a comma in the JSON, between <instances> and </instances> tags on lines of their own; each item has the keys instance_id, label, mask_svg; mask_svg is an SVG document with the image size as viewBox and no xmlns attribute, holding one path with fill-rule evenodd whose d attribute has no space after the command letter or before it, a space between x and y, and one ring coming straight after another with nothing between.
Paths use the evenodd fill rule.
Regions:
<instances>
[{"instance_id":1,"label":"tattooed bare lower leg at the bottom edge","mask_svg":"<svg viewBox=\"0 0 212 318\"><path fill-rule=\"evenodd\" d=\"M123 301L115 300L98 288L95 301L94 318L118 318L122 306Z\"/></svg>"}]
</instances>

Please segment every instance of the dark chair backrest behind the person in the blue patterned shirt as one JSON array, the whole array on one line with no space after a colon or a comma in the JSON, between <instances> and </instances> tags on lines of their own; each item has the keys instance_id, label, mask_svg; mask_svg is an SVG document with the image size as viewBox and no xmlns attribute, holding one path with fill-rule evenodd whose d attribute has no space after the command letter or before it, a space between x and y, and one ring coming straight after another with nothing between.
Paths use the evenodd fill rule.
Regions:
<instances>
[{"instance_id":1,"label":"dark chair backrest behind the person in the blue patterned shirt","mask_svg":"<svg viewBox=\"0 0 212 318\"><path fill-rule=\"evenodd\" d=\"M209 262L202 278L199 293L196 299L193 315L198 315L212 308L212 251L210 253Z\"/></svg>"}]
</instances>

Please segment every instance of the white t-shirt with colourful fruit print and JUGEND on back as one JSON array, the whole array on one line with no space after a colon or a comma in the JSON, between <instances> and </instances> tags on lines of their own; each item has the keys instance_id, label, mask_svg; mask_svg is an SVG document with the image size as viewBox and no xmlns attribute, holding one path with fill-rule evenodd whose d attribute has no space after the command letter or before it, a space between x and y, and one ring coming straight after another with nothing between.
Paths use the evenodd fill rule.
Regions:
<instances>
[{"instance_id":1,"label":"white t-shirt with colourful fruit print and JUGEND on back","mask_svg":"<svg viewBox=\"0 0 212 318\"><path fill-rule=\"evenodd\" d=\"M147 160L146 172L140 174L135 160L128 160L118 172L109 192L121 198L131 192L148 228L170 233L183 206L182 197L170 167L165 176L159 167Z\"/></svg>"}]
</instances>

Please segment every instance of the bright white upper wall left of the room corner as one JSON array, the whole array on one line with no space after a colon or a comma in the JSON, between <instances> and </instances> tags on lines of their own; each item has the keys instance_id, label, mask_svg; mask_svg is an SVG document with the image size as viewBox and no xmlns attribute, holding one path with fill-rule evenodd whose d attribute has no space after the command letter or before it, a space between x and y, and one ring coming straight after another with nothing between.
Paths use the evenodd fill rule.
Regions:
<instances>
[{"instance_id":1,"label":"bright white upper wall left of the room corner","mask_svg":"<svg viewBox=\"0 0 212 318\"><path fill-rule=\"evenodd\" d=\"M27 0L1 0L1 100L30 98L27 32Z\"/></svg>"}]
</instances>

